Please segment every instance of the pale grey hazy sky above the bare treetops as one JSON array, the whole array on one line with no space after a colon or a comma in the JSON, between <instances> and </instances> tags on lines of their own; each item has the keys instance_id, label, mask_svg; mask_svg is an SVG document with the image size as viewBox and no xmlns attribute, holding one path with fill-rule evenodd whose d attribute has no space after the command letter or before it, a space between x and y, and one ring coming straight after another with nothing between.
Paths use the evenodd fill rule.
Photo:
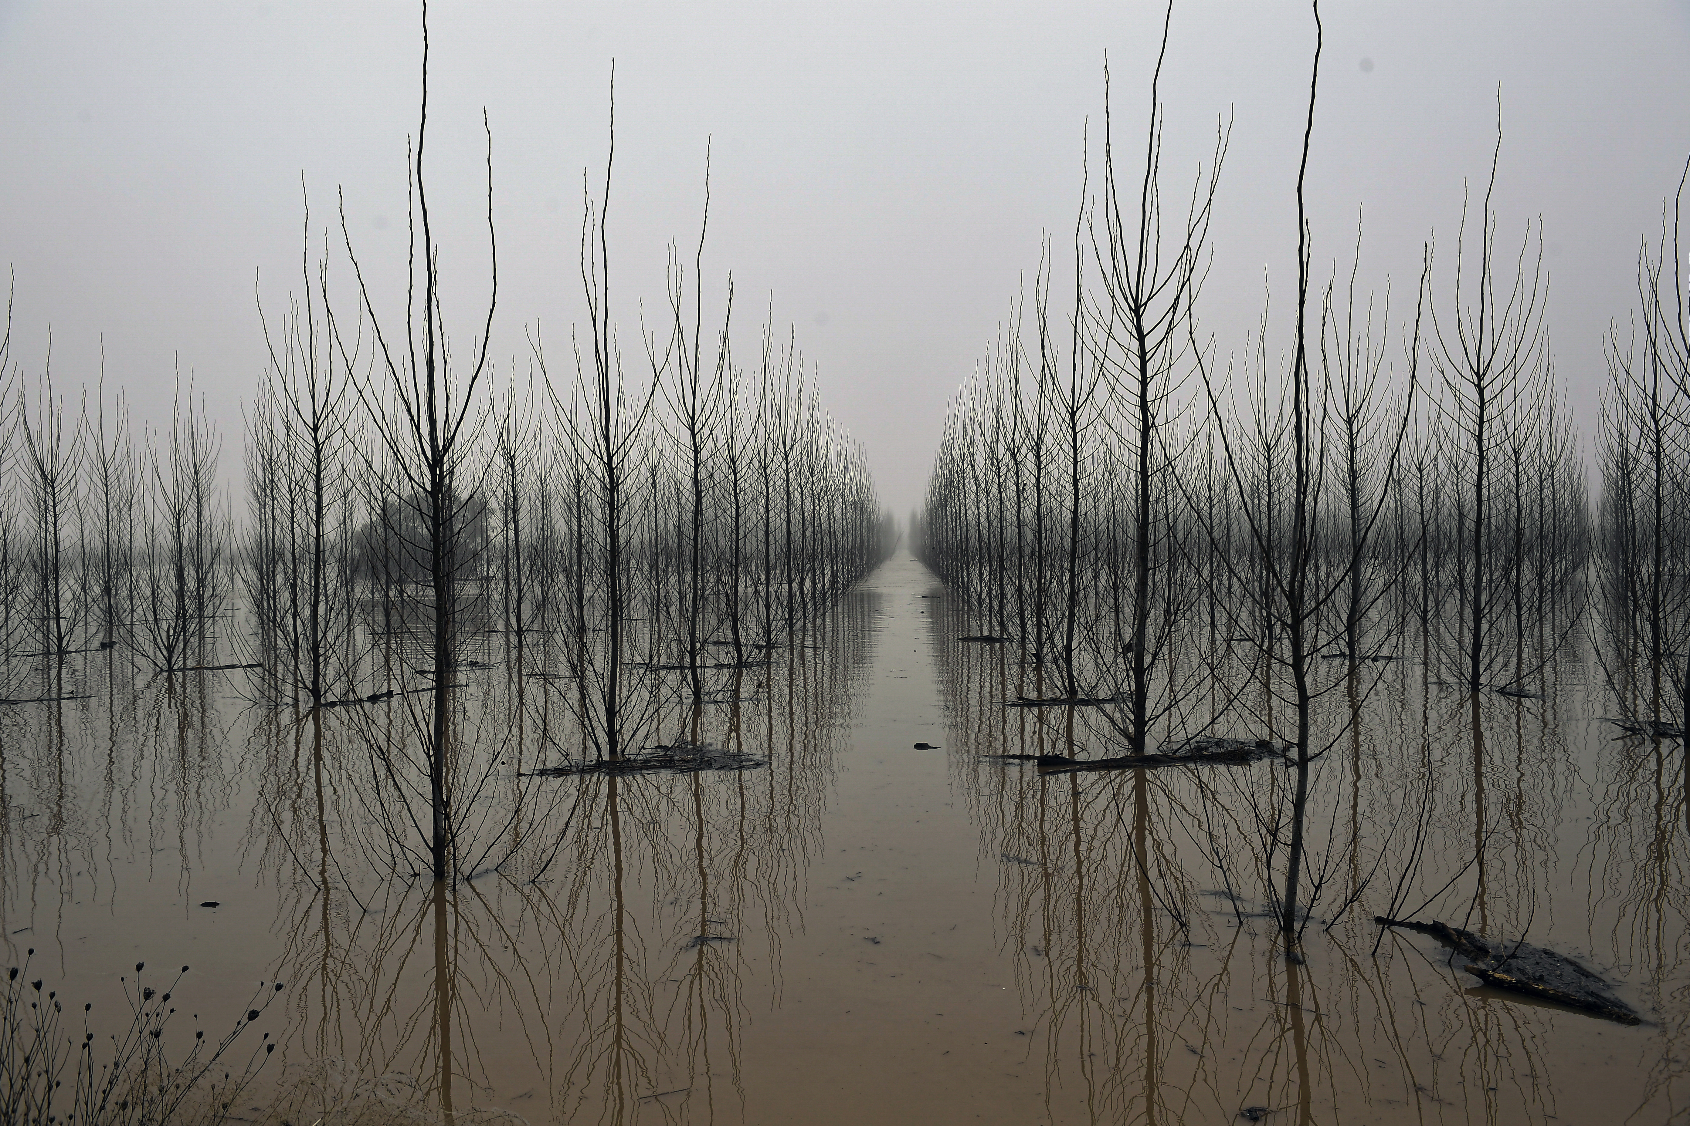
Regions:
<instances>
[{"instance_id":1,"label":"pale grey hazy sky above the bare treetops","mask_svg":"<svg viewBox=\"0 0 1690 1126\"><path fill-rule=\"evenodd\" d=\"M1137 147L1161 7L1120 3L466 3L431 8L431 208L463 343L485 292L482 108L493 128L500 380L541 321L563 366L581 316L581 172L605 159L617 66L615 314L641 360L664 245L696 240L713 135L708 292L733 270L750 360L772 295L860 441L882 498L919 501L946 400L1038 263L1070 238L1109 51L1117 137ZM1548 326L1585 434L1602 334L1636 304L1636 257L1690 154L1690 3L1328 3L1310 199L1317 273L1349 262L1411 312L1421 243L1452 265L1482 191L1502 88L1502 245L1543 218ZM73 392L98 373L167 420L177 358L225 425L264 368L254 295L299 289L336 189L397 312L416 3L0 3L0 265L14 358ZM1169 194L1232 115L1202 307L1242 355L1273 282L1289 307L1293 184L1313 24L1301 3L1181 0L1163 98ZM338 238L338 233L336 233ZM690 253L690 252L688 252ZM333 267L350 306L350 277ZM1448 272L1438 273L1447 282ZM1278 326L1283 329L1283 324ZM1399 329L1398 329L1399 331ZM1283 336L1281 336L1283 339ZM1393 346L1393 356L1401 349Z\"/></svg>"}]
</instances>

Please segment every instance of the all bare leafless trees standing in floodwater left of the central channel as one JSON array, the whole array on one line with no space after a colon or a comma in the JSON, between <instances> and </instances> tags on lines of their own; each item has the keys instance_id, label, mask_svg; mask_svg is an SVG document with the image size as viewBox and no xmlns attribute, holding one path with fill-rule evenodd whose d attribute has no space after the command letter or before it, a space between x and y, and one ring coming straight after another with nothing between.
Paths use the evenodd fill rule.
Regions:
<instances>
[{"instance_id":1,"label":"all bare leafless trees standing in floodwater left of the central channel","mask_svg":"<svg viewBox=\"0 0 1690 1126\"><path fill-rule=\"evenodd\" d=\"M492 130L485 306L461 351L426 138L424 19L406 300L377 299L343 219L314 238L306 211L303 284L264 317L240 513L191 393L137 439L103 385L74 412L49 373L25 378L7 334L0 640L12 702L68 699L66 658L95 652L167 677L250 672L252 699L301 723L357 707L372 812L419 836L444 880L468 847L466 804L509 773L505 736L465 690L487 658L559 704L542 733L554 756L622 763L676 699L696 716L739 692L894 530L796 339L771 317L735 353L732 275L706 326L708 164L698 250L686 262L671 245L669 316L642 321L641 361L624 365L610 304L607 160L583 199L586 324L554 370L536 322L526 378L512 366L499 388Z\"/></svg>"}]
</instances>

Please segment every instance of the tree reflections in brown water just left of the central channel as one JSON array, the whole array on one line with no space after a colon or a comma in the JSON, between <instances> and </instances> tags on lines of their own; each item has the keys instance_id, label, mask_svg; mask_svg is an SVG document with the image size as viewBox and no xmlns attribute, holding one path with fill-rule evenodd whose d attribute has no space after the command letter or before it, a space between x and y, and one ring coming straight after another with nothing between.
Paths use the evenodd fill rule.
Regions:
<instances>
[{"instance_id":1,"label":"tree reflections in brown water just left of the central channel","mask_svg":"<svg viewBox=\"0 0 1690 1126\"><path fill-rule=\"evenodd\" d=\"M740 1026L779 998L869 614L842 601L772 663L735 670L722 704L659 709L641 734L717 741L767 766L548 780L554 800L534 815L549 824L512 863L458 881L379 874L379 822L352 793L353 724L257 717L248 746L265 782L248 841L284 893L284 1104L739 1114ZM521 679L485 699L544 738ZM769 999L749 1001L749 986Z\"/></svg>"}]
</instances>

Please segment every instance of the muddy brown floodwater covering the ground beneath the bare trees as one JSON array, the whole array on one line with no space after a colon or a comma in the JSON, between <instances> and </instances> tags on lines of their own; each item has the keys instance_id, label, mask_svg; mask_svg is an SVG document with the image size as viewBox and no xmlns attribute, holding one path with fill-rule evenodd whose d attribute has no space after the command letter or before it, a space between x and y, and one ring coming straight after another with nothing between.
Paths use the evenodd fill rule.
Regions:
<instances>
[{"instance_id":1,"label":"muddy brown floodwater covering the ground beneath the bare trees","mask_svg":"<svg viewBox=\"0 0 1690 1126\"><path fill-rule=\"evenodd\" d=\"M1038 672L973 633L897 555L698 721L760 765L478 795L539 829L439 890L392 876L348 721L277 719L238 674L120 689L88 655L95 699L3 716L7 954L98 1031L134 962L189 964L177 1003L216 1033L284 983L232 1057L279 1045L247 1121L1685 1116L1685 751L1614 739L1577 655L1541 701L1475 712L1403 662L1327 704L1355 723L1317 773L1298 962L1266 915L1283 766L990 758L1119 751L1006 707ZM551 753L546 690L488 663L515 778ZM1374 952L1393 898L1575 957L1643 1023L1482 988L1420 934Z\"/></svg>"}]
</instances>

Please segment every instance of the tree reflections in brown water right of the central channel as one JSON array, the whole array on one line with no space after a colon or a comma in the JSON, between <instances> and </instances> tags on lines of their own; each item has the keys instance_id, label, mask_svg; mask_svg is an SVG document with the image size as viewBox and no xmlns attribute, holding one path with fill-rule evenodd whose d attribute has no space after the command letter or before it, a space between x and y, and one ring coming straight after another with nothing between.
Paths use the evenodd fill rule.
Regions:
<instances>
[{"instance_id":1,"label":"tree reflections in brown water right of the central channel","mask_svg":"<svg viewBox=\"0 0 1690 1126\"><path fill-rule=\"evenodd\" d=\"M963 609L940 613L940 638L972 633ZM951 765L997 873L1051 1119L1317 1123L1369 1106L1546 1121L1622 1097L1641 1121L1668 1106L1685 1026L1683 753L1589 739L1573 714L1600 709L1600 684L1553 648L1541 699L1438 685L1409 662L1328 697L1317 913L1288 957L1262 861L1264 822L1288 800L1276 763L1041 775L995 756L1119 751L1097 750L1109 743L1085 709L1004 707L1039 675L1009 647L941 640ZM1249 704L1227 706L1247 721ZM1570 873L1589 896L1568 896ZM1612 1067L1602 1037L1629 1033L1475 988L1420 935L1386 932L1374 952L1374 913L1533 935L1634 983L1661 1015L1638 1084L1609 1077L1592 1102L1568 1067L1597 1050Z\"/></svg>"}]
</instances>

